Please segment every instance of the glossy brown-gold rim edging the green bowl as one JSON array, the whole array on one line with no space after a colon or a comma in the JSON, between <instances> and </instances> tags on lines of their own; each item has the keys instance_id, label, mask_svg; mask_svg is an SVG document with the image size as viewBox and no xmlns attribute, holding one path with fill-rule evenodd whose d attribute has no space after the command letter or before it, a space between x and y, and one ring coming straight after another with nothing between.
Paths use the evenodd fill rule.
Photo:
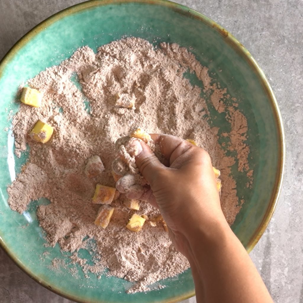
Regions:
<instances>
[{"instance_id":1,"label":"glossy brown-gold rim edging the green bowl","mask_svg":"<svg viewBox=\"0 0 303 303\"><path fill-rule=\"evenodd\" d=\"M282 122L281 113L278 107L278 102L275 98L274 92L268 82L268 79L266 78L264 72L262 71L261 67L257 63L257 61L253 58L253 56L250 54L250 52L225 28L218 25L215 21L212 19L206 17L205 15L195 11L194 9L191 9L185 5L181 5L175 2L171 2L168 0L88 0L82 3L78 3L76 5L72 5L68 8L65 8L50 17L46 18L42 22L40 22L38 25L36 25L34 28L32 28L29 32L27 32L25 35L23 35L6 53L6 55L2 58L0 61L0 80L2 78L2 73L5 69L5 66L12 60L12 58L15 56L15 54L25 45L27 44L32 38L35 37L39 32L43 31L48 26L52 25L54 22L58 21L59 19L72 15L74 13L78 13L80 11L83 11L88 8L97 7L97 6L103 6L103 5L109 5L109 4L127 4L127 3L141 3L141 4L148 4L148 5L159 5L164 6L167 8L172 8L176 12L190 18L195 18L200 20L201 22L204 22L206 25L214 28L217 32L219 32L223 38L225 39L225 42L228 43L236 52L238 52L239 55L241 55L250 65L252 70L255 72L255 74L258 76L259 81L261 82L266 95L268 97L268 100L270 102L271 108L273 110L274 118L275 118L275 124L278 131L278 170L276 173L275 178L275 190L271 194L270 203L268 204L268 208L265 212L265 215L258 226L255 233L251 236L250 240L248 241L248 244L246 245L247 252L251 252L251 250L255 247L261 236L263 235L265 229L267 228L269 221L271 220L271 217L275 211L278 198L281 192L282 187L282 181L283 181L283 174L284 174L284 166L285 166L285 133L284 133L284 127ZM87 300L81 300L79 301L78 298L74 297L71 294L66 293L65 291L61 291L57 289L54 286L48 285L45 281L41 281L40 278L35 275L32 271L28 270L28 268L25 267L25 265L16 258L9 250L5 242L0 236L0 247L3 248L3 250L6 252L6 254L12 259L12 261L15 262L15 264L22 269L30 278L32 278L34 281L38 282L40 285L44 286L45 288L53 291L54 293L65 297L67 299L73 300L75 302L79 303L89 303ZM174 303L179 302L182 300L185 300L187 298L190 298L195 295L195 291L190 291L188 293L185 293L183 295L180 295L178 297L159 301L159 303ZM106 303L99 301L99 303Z\"/></svg>"}]
</instances>

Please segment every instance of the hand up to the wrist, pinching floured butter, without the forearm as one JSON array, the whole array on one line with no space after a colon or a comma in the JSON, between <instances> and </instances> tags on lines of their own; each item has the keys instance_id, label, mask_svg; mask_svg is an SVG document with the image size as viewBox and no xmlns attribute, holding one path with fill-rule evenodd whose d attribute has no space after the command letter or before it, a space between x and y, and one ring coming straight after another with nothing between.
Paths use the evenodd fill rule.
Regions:
<instances>
[{"instance_id":1,"label":"hand up to the wrist, pinching floured butter, without the forearm","mask_svg":"<svg viewBox=\"0 0 303 303\"><path fill-rule=\"evenodd\" d=\"M140 198L159 208L173 243L188 255L186 239L197 227L206 230L214 222L224 222L215 175L208 153L171 135L151 135L165 157L162 164L141 140L135 160L151 190Z\"/></svg>"}]
</instances>

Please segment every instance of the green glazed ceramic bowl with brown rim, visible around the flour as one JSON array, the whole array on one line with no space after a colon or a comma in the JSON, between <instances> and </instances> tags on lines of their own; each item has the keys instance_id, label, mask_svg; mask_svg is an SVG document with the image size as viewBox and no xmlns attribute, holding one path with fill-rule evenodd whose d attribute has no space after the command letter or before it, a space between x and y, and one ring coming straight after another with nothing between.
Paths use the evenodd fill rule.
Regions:
<instances>
[{"instance_id":1,"label":"green glazed ceramic bowl with brown rim, visible around the flour","mask_svg":"<svg viewBox=\"0 0 303 303\"><path fill-rule=\"evenodd\" d=\"M53 258L63 258L58 245L44 247L43 231L35 215L33 201L23 214L10 210L7 185L20 171L21 159L13 154L12 114L18 85L42 70L68 58L77 48L98 46L126 36L136 36L157 44L176 42L196 55L202 65L228 93L238 100L248 120L247 143L254 168L252 189L245 177L233 170L239 197L245 204L232 226L250 251L261 237L274 211L283 174L285 143L281 116L271 87L250 53L230 33L212 20L185 6L161 0L89 1L48 18L25 35L8 52L0 65L0 244L16 264L36 281L56 293L79 302L177 302L194 295L190 270L161 281L166 288L147 294L127 295L129 282L105 275L84 278L49 268ZM220 71L220 72L219 72ZM209 106L212 112L211 105ZM213 124L226 130L218 116ZM242 188L242 189L241 189ZM48 251L48 255L42 255ZM83 252L85 255L85 251ZM67 259L67 258L66 258Z\"/></svg>"}]
</instances>

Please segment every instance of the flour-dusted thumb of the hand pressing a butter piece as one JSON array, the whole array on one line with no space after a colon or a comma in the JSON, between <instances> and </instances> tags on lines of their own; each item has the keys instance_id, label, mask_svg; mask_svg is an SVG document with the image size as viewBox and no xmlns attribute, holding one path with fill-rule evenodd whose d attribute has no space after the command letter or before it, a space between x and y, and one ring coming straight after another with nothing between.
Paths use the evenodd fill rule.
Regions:
<instances>
[{"instance_id":1,"label":"flour-dusted thumb of the hand pressing a butter piece","mask_svg":"<svg viewBox=\"0 0 303 303\"><path fill-rule=\"evenodd\" d=\"M166 169L166 167L159 161L145 142L136 139L133 144L136 145L136 165L143 177L152 186L155 179L157 179L159 172L162 169Z\"/></svg>"}]
</instances>

